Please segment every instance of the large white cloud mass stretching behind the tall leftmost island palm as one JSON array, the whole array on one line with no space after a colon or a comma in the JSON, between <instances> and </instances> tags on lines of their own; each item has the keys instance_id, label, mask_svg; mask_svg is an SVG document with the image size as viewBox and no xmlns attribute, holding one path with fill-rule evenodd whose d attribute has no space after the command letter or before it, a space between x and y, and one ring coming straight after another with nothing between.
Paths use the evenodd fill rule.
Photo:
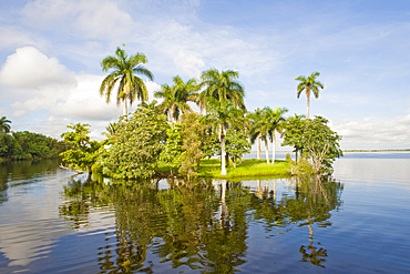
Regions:
<instances>
[{"instance_id":1,"label":"large white cloud mass stretching behind the tall leftmost island palm","mask_svg":"<svg viewBox=\"0 0 410 274\"><path fill-rule=\"evenodd\" d=\"M0 83L6 91L2 97L8 94L12 100L14 118L45 110L54 118L75 121L116 119L122 108L116 106L115 94L112 94L110 104L100 97L102 80L101 75L75 75L58 59L49 58L32 47L17 49L0 71ZM160 84L151 81L146 85L150 98L161 89Z\"/></svg>"}]
</instances>

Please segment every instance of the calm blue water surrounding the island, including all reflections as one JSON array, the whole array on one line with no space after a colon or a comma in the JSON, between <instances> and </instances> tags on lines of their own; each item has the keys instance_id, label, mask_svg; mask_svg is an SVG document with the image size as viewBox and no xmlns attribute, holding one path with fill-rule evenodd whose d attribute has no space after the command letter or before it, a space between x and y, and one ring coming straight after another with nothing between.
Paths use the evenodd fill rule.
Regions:
<instances>
[{"instance_id":1,"label":"calm blue water surrounding the island, including all reflections","mask_svg":"<svg viewBox=\"0 0 410 274\"><path fill-rule=\"evenodd\" d=\"M410 153L365 154L324 181L137 186L3 164L0 273L408 273Z\"/></svg>"}]
</instances>

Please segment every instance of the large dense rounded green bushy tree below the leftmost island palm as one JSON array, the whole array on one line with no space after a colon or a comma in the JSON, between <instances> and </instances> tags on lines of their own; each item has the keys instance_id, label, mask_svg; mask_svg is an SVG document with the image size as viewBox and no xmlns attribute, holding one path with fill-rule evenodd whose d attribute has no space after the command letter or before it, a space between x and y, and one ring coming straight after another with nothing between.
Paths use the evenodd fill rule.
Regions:
<instances>
[{"instance_id":1,"label":"large dense rounded green bushy tree below the leftmost island palm","mask_svg":"<svg viewBox=\"0 0 410 274\"><path fill-rule=\"evenodd\" d=\"M155 112L155 103L142 103L126 123L117 124L115 141L101 150L99 165L116 179L152 177L170 128L166 116Z\"/></svg>"}]
</instances>

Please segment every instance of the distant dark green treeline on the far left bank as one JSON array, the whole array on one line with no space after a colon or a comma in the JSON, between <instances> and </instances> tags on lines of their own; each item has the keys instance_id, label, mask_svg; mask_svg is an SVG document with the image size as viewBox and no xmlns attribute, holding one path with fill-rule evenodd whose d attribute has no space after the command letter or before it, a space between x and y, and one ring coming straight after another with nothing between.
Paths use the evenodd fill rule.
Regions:
<instances>
[{"instance_id":1,"label":"distant dark green treeline on the far left bank","mask_svg":"<svg viewBox=\"0 0 410 274\"><path fill-rule=\"evenodd\" d=\"M0 132L0 162L7 160L42 160L58 158L71 145L29 131Z\"/></svg>"}]
</instances>

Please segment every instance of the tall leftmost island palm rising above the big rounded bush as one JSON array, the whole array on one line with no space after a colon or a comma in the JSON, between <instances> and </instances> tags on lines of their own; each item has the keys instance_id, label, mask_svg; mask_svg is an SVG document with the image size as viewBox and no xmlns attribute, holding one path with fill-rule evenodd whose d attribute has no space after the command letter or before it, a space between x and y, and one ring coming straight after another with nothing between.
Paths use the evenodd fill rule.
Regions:
<instances>
[{"instance_id":1,"label":"tall leftmost island palm rising above the big rounded bush","mask_svg":"<svg viewBox=\"0 0 410 274\"><path fill-rule=\"evenodd\" d=\"M101 61L101 68L104 72L110 69L113 71L103 80L100 87L100 95L106 97L106 103L110 103L111 92L115 84L116 104L121 101L124 103L124 115L127 115L127 101L130 105L135 100L135 97L142 102L148 100L148 91L144 81L135 74L145 75L151 81L154 80L152 72L145 69L141 63L146 63L147 60L143 53L137 52L135 55L129 57L124 49L116 48L115 55L107 55Z\"/></svg>"}]
</instances>

